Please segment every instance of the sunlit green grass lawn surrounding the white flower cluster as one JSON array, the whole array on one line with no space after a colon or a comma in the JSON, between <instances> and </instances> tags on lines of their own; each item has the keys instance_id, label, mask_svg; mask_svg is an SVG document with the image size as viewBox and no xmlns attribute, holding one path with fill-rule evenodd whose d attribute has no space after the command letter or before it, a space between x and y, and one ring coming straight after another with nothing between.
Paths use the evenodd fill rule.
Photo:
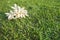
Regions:
<instances>
[{"instance_id":1,"label":"sunlit green grass lawn surrounding the white flower cluster","mask_svg":"<svg viewBox=\"0 0 60 40\"><path fill-rule=\"evenodd\" d=\"M8 20L15 3L29 17ZM60 40L60 0L0 0L0 40Z\"/></svg>"}]
</instances>

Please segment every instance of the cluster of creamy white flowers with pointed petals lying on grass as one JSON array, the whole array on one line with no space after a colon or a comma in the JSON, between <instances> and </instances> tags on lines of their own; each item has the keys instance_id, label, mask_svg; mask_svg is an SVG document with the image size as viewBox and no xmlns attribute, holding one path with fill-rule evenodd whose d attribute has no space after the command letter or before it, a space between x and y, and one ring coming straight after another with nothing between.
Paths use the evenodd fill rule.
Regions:
<instances>
[{"instance_id":1,"label":"cluster of creamy white flowers with pointed petals lying on grass","mask_svg":"<svg viewBox=\"0 0 60 40\"><path fill-rule=\"evenodd\" d=\"M14 6L11 7L12 10L10 10L9 13L5 13L8 17L8 20L16 19L16 18L25 18L25 16L28 16L27 10L21 8L20 6L17 6L17 4L14 4Z\"/></svg>"}]
</instances>

